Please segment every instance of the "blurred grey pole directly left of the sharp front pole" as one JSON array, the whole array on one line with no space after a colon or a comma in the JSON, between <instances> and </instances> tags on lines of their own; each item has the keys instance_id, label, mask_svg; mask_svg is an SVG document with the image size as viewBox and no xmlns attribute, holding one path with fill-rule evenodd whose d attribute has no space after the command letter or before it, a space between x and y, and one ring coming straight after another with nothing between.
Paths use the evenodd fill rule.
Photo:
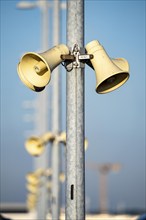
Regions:
<instances>
[{"instance_id":1,"label":"blurred grey pole directly left of the sharp front pole","mask_svg":"<svg viewBox=\"0 0 146 220\"><path fill-rule=\"evenodd\" d=\"M54 0L53 15L53 44L59 44L59 20L60 20L60 2ZM59 135L61 125L61 109L60 109L60 68L57 67L52 73L52 132ZM60 217L60 156L61 148L57 141L52 145L52 219L59 220Z\"/></svg>"}]
</instances>

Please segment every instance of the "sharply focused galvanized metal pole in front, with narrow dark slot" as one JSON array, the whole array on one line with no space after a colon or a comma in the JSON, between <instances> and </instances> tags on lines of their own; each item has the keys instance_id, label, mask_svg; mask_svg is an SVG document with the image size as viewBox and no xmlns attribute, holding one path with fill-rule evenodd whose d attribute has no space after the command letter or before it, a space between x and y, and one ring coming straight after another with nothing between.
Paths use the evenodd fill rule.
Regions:
<instances>
[{"instance_id":1,"label":"sharply focused galvanized metal pole in front, with narrow dark slot","mask_svg":"<svg viewBox=\"0 0 146 220\"><path fill-rule=\"evenodd\" d=\"M68 0L67 44L84 46L84 1ZM85 219L84 68L67 72L66 220Z\"/></svg>"}]
</instances>

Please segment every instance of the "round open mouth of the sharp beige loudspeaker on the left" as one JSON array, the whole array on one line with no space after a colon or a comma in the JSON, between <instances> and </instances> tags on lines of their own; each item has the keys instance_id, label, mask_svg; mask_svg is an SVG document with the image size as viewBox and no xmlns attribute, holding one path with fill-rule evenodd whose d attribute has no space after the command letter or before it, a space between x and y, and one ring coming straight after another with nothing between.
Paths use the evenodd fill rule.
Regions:
<instances>
[{"instance_id":1,"label":"round open mouth of the sharp beige loudspeaker on the left","mask_svg":"<svg viewBox=\"0 0 146 220\"><path fill-rule=\"evenodd\" d=\"M18 64L18 75L28 88L41 92L51 79L51 70L43 57L29 52Z\"/></svg>"}]
</instances>

